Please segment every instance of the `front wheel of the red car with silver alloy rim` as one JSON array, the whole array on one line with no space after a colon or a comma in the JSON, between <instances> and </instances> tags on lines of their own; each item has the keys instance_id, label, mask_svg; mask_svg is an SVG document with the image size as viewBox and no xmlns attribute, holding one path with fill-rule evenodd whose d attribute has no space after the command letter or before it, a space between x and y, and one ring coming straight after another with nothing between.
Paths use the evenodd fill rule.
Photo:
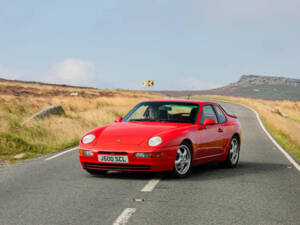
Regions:
<instances>
[{"instance_id":1,"label":"front wheel of the red car with silver alloy rim","mask_svg":"<svg viewBox=\"0 0 300 225\"><path fill-rule=\"evenodd\" d=\"M192 171L192 158L191 146L186 142L182 143L177 150L173 176L183 178L190 175Z\"/></svg>"}]
</instances>

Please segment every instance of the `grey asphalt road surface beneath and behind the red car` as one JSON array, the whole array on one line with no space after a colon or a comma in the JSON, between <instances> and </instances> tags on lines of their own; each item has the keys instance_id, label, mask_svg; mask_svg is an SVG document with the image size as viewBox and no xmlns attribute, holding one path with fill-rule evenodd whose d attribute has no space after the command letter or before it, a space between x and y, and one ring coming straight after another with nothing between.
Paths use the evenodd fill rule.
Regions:
<instances>
[{"instance_id":1,"label":"grey asphalt road surface beneath and behind the red car","mask_svg":"<svg viewBox=\"0 0 300 225\"><path fill-rule=\"evenodd\" d=\"M300 224L300 172L252 111L222 104L243 127L237 168L205 165L186 179L119 172L95 177L81 169L76 150L2 166L0 225ZM154 178L160 181L153 190L142 192Z\"/></svg>"}]
</instances>

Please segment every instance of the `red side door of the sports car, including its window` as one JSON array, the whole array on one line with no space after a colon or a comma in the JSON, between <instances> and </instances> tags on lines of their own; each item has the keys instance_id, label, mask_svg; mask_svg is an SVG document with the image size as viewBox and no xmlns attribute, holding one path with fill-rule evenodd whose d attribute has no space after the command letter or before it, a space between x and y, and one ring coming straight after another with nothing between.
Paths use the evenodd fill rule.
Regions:
<instances>
[{"instance_id":1,"label":"red side door of the sports car, including its window","mask_svg":"<svg viewBox=\"0 0 300 225\"><path fill-rule=\"evenodd\" d=\"M196 135L198 143L196 158L198 159L213 157L222 152L222 132L219 130L220 124L212 104L203 105L200 125L203 125L206 118L213 119L216 124L208 125L198 131Z\"/></svg>"}]
</instances>

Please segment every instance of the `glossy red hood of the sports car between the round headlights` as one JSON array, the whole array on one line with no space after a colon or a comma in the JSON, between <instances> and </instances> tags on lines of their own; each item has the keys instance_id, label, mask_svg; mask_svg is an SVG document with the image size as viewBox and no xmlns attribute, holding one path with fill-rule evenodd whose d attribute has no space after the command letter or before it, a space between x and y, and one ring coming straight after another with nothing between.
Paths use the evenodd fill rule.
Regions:
<instances>
[{"instance_id":1,"label":"glossy red hood of the sports car between the round headlights","mask_svg":"<svg viewBox=\"0 0 300 225\"><path fill-rule=\"evenodd\" d=\"M161 132L183 127L184 124L159 122L121 122L106 126L97 136L96 145L139 145Z\"/></svg>"}]
</instances>

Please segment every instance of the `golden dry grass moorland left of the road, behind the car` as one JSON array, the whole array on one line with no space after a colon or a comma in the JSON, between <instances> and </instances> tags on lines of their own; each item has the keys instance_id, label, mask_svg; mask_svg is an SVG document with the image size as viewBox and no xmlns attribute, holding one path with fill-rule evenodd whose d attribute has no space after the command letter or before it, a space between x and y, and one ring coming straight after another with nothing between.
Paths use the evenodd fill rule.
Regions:
<instances>
[{"instance_id":1,"label":"golden dry grass moorland left of the road, behind the car","mask_svg":"<svg viewBox=\"0 0 300 225\"><path fill-rule=\"evenodd\" d=\"M78 95L70 96L72 92ZM12 162L19 153L31 158L74 146L88 130L112 123L138 102L153 98L161 95L0 82L0 159ZM65 115L22 125L34 113L54 104L61 105Z\"/></svg>"}]
</instances>

